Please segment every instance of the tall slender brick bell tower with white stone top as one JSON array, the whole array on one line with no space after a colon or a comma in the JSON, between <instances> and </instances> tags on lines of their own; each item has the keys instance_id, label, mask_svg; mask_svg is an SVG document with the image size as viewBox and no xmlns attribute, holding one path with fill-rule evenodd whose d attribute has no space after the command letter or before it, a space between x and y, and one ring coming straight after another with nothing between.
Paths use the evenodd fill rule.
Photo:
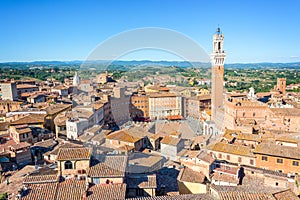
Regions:
<instances>
[{"instance_id":1,"label":"tall slender brick bell tower with white stone top","mask_svg":"<svg viewBox=\"0 0 300 200\"><path fill-rule=\"evenodd\" d=\"M213 36L213 52L210 56L212 64L212 120L215 120L218 109L223 105L224 62L226 58L223 44L224 35L218 28Z\"/></svg>"}]
</instances>

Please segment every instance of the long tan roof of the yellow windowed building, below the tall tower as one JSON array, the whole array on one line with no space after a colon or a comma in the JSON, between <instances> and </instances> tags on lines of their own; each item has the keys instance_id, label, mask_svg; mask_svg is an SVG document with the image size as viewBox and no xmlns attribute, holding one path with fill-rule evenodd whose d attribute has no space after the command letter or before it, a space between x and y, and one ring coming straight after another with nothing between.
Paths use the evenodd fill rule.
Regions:
<instances>
[{"instance_id":1,"label":"long tan roof of the yellow windowed building, below the tall tower","mask_svg":"<svg viewBox=\"0 0 300 200\"><path fill-rule=\"evenodd\" d=\"M234 144L227 144L218 142L214 145L210 145L207 147L209 150L216 151L216 152L223 152L241 156L248 156L254 157L253 153L251 152L251 148L247 146L241 145L234 145Z\"/></svg>"}]
</instances>

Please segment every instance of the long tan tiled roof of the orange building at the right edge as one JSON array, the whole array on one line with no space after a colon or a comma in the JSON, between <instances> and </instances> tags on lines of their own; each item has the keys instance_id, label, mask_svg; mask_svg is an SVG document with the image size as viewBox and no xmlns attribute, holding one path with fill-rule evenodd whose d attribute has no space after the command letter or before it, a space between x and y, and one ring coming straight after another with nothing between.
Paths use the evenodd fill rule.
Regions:
<instances>
[{"instance_id":1,"label":"long tan tiled roof of the orange building at the right edge","mask_svg":"<svg viewBox=\"0 0 300 200\"><path fill-rule=\"evenodd\" d=\"M261 143L256 146L253 153L300 160L300 148L274 143Z\"/></svg>"}]
</instances>

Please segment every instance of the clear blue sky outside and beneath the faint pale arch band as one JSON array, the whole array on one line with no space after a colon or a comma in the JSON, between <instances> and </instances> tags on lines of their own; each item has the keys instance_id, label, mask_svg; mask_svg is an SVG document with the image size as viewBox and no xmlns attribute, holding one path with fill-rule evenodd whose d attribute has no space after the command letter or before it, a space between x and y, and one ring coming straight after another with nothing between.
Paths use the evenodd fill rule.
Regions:
<instances>
[{"instance_id":1,"label":"clear blue sky outside and beneath the faint pale arch band","mask_svg":"<svg viewBox=\"0 0 300 200\"><path fill-rule=\"evenodd\" d=\"M218 24L227 63L299 62L299 9L297 0L1 0L0 62L84 60L107 38L142 27L178 31L210 53ZM122 58L177 59L149 50Z\"/></svg>"}]
</instances>

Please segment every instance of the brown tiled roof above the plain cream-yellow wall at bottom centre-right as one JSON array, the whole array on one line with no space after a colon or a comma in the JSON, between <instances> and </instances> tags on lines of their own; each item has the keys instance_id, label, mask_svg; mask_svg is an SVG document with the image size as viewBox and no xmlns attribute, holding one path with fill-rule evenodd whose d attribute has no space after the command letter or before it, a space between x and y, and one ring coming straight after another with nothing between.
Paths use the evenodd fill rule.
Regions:
<instances>
[{"instance_id":1,"label":"brown tiled roof above the plain cream-yellow wall at bottom centre-right","mask_svg":"<svg viewBox=\"0 0 300 200\"><path fill-rule=\"evenodd\" d=\"M204 183L205 175L202 172L194 171L188 167L184 167L180 170L177 180L190 183Z\"/></svg>"}]
</instances>

